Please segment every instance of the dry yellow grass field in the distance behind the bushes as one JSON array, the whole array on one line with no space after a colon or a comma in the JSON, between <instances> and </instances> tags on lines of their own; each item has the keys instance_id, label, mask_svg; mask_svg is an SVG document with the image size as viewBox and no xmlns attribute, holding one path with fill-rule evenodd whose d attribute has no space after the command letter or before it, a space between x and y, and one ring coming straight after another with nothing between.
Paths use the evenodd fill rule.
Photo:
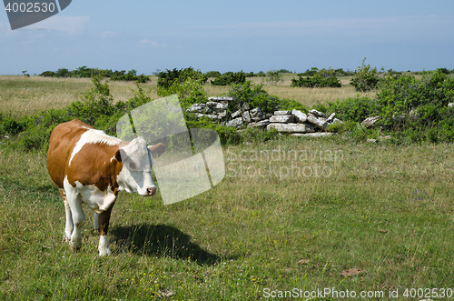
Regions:
<instances>
[{"instance_id":1,"label":"dry yellow grass field in the distance behind the bushes","mask_svg":"<svg viewBox=\"0 0 454 301\"><path fill-rule=\"evenodd\" d=\"M341 78L341 88L300 88L291 87L291 78L296 75L284 75L283 81L271 83L264 77L251 77L254 85L263 84L263 88L270 94L280 98L289 98L311 107L318 103L346 99L357 95L355 89L349 85L350 78ZM157 77L144 84L146 95L157 99ZM204 86L208 96L226 95L229 86ZM136 91L133 82L108 81L114 102L126 102ZM25 77L21 75L0 76L0 112L12 117L30 115L40 110L62 108L79 100L82 95L94 85L89 78L53 78L42 76ZM373 96L374 93L361 95Z\"/></svg>"}]
</instances>

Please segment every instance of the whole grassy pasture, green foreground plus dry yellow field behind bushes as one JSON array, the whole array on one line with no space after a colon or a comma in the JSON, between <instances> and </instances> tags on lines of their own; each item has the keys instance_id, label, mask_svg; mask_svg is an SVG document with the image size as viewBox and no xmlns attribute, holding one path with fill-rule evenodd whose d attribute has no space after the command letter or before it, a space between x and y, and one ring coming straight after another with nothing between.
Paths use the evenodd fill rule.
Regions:
<instances>
[{"instance_id":1,"label":"whole grassy pasture, green foreground plus dry yellow field behind bushes","mask_svg":"<svg viewBox=\"0 0 454 301\"><path fill-rule=\"evenodd\" d=\"M289 82L265 89L308 106L356 95L348 85L301 89ZM110 85L115 100L132 95L133 84ZM152 99L155 85L155 78L145 85ZM90 81L0 76L0 87L0 113L20 116L68 105ZM227 89L206 85L208 95ZM163 206L159 188L148 198L121 193L109 230L113 256L99 258L86 207L81 251L72 254L62 241L64 204L46 155L0 147L0 298L454 295L452 145L294 137L224 145L223 152L226 176L202 195Z\"/></svg>"}]
</instances>

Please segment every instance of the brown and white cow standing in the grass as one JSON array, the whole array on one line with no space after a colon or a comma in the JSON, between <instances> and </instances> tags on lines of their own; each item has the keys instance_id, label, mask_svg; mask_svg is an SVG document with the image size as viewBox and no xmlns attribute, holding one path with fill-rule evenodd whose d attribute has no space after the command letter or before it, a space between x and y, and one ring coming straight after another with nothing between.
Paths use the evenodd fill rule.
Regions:
<instances>
[{"instance_id":1,"label":"brown and white cow standing in the grass","mask_svg":"<svg viewBox=\"0 0 454 301\"><path fill-rule=\"evenodd\" d=\"M146 145L143 138L124 142L74 119L57 125L47 154L47 169L60 189L66 211L64 239L76 251L82 246L82 203L94 211L94 228L101 233L99 256L111 255L107 230L119 191L153 196L153 156L165 145Z\"/></svg>"}]
</instances>

